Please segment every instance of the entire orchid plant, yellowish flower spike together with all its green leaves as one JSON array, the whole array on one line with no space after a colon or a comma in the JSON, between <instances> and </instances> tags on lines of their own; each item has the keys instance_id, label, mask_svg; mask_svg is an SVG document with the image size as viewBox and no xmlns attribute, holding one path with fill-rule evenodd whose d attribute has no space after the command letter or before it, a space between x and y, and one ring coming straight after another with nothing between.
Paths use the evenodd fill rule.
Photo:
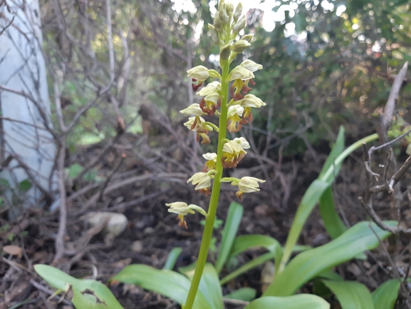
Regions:
<instances>
[{"instance_id":1,"label":"entire orchid plant, yellowish flower spike together with all its green leaves","mask_svg":"<svg viewBox=\"0 0 411 309\"><path fill-rule=\"evenodd\" d=\"M174 248L167 258L164 269L158 270L140 264L128 265L113 276L110 283L140 285L142 288L174 299L182 305L183 309L223 309L222 285L274 258L275 269L272 283L266 288L261 298L253 300L256 296L255 290L253 295L247 296L247 299L252 301L246 305L245 309L329 309L330 304L318 295L294 295L302 285L313 278L317 278L317 281L321 280L321 284L333 291L343 309L392 309L400 289L398 280L383 283L371 294L364 285L343 281L343 278L332 270L335 265L352 258L364 258L365 250L376 248L381 240L390 235L390 232L383 231L375 224L368 222L361 222L347 228L335 211L331 194L331 184L338 176L343 160L363 143L375 141L378 138L377 134L367 136L344 150L344 130L340 129L337 141L323 170L318 179L313 181L308 188L298 206L283 248L278 240L267 235L235 237L243 208L238 203L231 203L216 265L206 263L222 183L227 182L236 186L238 188L236 196L241 200L244 193L259 191L259 183L265 182L263 179L250 176L223 177L224 168L235 168L246 156L246 149L250 148L244 137L229 140L227 131L238 132L241 126L253 120L252 108L266 105L260 98L249 93L251 86L255 85L254 72L262 69L260 64L247 59L230 71L230 65L237 54L241 54L251 46L251 35L241 38L239 36L240 31L246 25L246 18L242 15L242 11L241 4L234 8L231 1L220 0L214 24L209 24L212 39L219 45L221 74L205 66L196 66L187 71L188 77L192 80L192 89L197 91L197 96L200 96L201 100L200 103L194 103L181 111L189 116L184 126L194 131L197 142L201 140L203 144L211 143L212 131L218 133L217 152L205 153L202 171L194 173L187 181L195 186L196 191L205 196L211 194L208 210L184 201L165 204L170 213L177 214L179 226L184 228L188 228L185 216L189 213L193 214L197 211L206 218L195 269L194 265L189 265L186 268L180 268L180 273L172 271L175 260L181 253L181 248ZM203 86L209 79L214 79L214 81ZM219 117L219 125L216 126L206 121L203 116ZM318 248L298 248L297 240L316 203L319 203L324 226L333 240ZM385 224L397 225L395 221L387 221ZM230 258L256 247L266 248L269 252L250 260L229 275L219 279L220 271ZM299 251L303 253L290 260L291 254ZM56 293L63 292L64 296L68 290L73 290L72 302L78 309L107 308L107 306L113 309L123 309L110 290L102 283L95 280L78 280L48 265L36 265L35 269L44 280L58 289ZM241 288L235 291L237 292L236 297L240 294L244 297L249 290ZM228 296L225 295L225 298ZM231 297L234 298L232 295Z\"/></svg>"}]
</instances>

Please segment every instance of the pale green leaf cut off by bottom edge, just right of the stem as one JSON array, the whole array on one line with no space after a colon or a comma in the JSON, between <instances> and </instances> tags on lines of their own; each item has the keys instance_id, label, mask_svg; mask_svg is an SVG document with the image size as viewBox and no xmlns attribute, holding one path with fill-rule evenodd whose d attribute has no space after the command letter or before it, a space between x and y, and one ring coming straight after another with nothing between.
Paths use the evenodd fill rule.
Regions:
<instances>
[{"instance_id":1,"label":"pale green leaf cut off by bottom edge, just right of the stem","mask_svg":"<svg viewBox=\"0 0 411 309\"><path fill-rule=\"evenodd\" d=\"M329 309L330 304L323 298L311 294L288 297L266 296L253 300L244 309Z\"/></svg>"}]
</instances>

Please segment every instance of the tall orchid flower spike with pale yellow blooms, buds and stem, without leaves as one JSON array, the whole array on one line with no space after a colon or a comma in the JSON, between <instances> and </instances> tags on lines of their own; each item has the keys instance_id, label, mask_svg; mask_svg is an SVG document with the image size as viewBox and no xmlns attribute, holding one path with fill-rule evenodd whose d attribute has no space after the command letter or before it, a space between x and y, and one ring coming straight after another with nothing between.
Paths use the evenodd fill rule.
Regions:
<instances>
[{"instance_id":1,"label":"tall orchid flower spike with pale yellow blooms, buds and stem, without leaves","mask_svg":"<svg viewBox=\"0 0 411 309\"><path fill-rule=\"evenodd\" d=\"M241 126L252 121L251 108L260 108L266 105L260 98L249 93L251 91L250 85L255 85L254 72L262 69L260 64L247 59L230 71L230 64L236 55L241 54L247 47L251 46L252 35L239 38L239 32L246 26L246 17L242 11L241 3L234 9L234 4L230 1L219 1L214 25L209 24L212 40L219 45L219 66L222 74L214 69L207 69L205 66L196 66L187 71L188 77L192 78L193 91L197 91L205 81L211 78L214 78L214 81L196 93L197 96L202 97L200 103L194 103L180 111L180 113L190 116L184 126L196 132L196 140L198 142L201 138L201 143L210 143L209 133L217 131L218 143L217 153L204 154L206 162L203 170L194 173L187 181L195 186L196 191L204 193L205 196L211 193L208 211L206 212L196 205L188 206L187 203L181 201L166 204L170 207L168 209L170 213L177 213L180 219L179 225L185 228L187 228L187 222L184 216L187 216L188 213L198 211L206 217L194 277L187 301L184 304L185 309L192 308L207 261L221 184L229 182L232 186L237 186L236 196L241 199L244 193L259 191L259 183L265 182L262 179L249 176L241 179L222 177L224 168L236 167L246 155L246 149L250 148L249 142L244 137L229 140L226 137L227 129L231 133L238 132ZM219 126L204 120L202 116L205 115L218 116Z\"/></svg>"}]
</instances>

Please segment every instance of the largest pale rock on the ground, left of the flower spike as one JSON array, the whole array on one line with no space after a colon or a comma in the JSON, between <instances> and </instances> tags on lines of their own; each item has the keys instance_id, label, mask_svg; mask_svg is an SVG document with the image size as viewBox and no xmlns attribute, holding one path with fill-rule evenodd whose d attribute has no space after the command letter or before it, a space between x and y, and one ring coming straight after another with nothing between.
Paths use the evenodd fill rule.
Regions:
<instances>
[{"instance_id":1,"label":"largest pale rock on the ground, left of the flower spike","mask_svg":"<svg viewBox=\"0 0 411 309\"><path fill-rule=\"evenodd\" d=\"M108 211L93 211L85 215L85 221L90 224L90 226L98 226L104 221L105 224L104 232L113 237L117 237L128 225L127 217L123 213L110 213Z\"/></svg>"}]
</instances>

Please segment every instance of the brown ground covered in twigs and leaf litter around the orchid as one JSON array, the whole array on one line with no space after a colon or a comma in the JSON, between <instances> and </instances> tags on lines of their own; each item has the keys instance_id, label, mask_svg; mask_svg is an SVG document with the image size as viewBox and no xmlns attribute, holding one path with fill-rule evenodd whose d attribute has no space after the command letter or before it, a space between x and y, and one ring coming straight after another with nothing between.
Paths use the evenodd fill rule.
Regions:
<instances>
[{"instance_id":1,"label":"brown ground covered in twigs and leaf litter around the orchid","mask_svg":"<svg viewBox=\"0 0 411 309\"><path fill-rule=\"evenodd\" d=\"M107 186L103 199L97 198L95 203L88 203L93 196L99 196L99 191L89 191L73 200L68 198L65 238L67 254L58 260L57 267L78 278L95 278L106 283L110 277L132 263L162 268L168 253L175 247L182 248L175 269L196 260L202 235L202 218L197 214L188 216L186 230L177 225L175 214L167 213L165 207L165 203L187 201L207 208L209 201L209 197L204 198L202 194L194 192L192 186L186 183L192 173L201 169L201 158L194 151L198 148L194 146L192 136L184 140L180 138L182 132L176 130L174 134L162 133L161 136L126 135L115 150L102 158L97 166L98 175L107 177L118 166L121 154L125 153L126 157ZM326 142L324 144L327 145ZM81 149L76 156L70 157L71 161L67 162L67 166L74 162L87 162L98 156L101 148L102 146L92 146ZM250 158L244 159L235 173L249 173L260 178L268 176L271 183L267 181L262 185L259 193L245 195L244 201L236 198L235 189L229 184L223 186L217 217L224 220L229 203L241 202L244 206L244 218L239 235L259 233L285 243L298 203L306 188L321 171L329 150L327 146L313 147L301 156L282 159L279 159L278 153L268 153L266 157L262 157L257 156L255 151L250 151ZM402 154L399 161L404 158ZM363 194L363 178L360 153L355 153L345 161L340 176L333 185L338 212L343 214L345 222L350 226L367 220L365 211L358 203L358 196ZM85 182L78 186L84 188L88 185L90 183ZM73 186L68 191L68 197L79 192L78 186ZM376 204L378 214L383 218L395 219L397 216L392 211L392 205L390 206L391 200L390 196L380 196L380 203ZM400 214L402 218L408 218L410 213L407 212L408 207L405 207L408 205L407 198L402 204ZM88 230L84 215L91 210L124 213L128 218L128 226L114 240L104 233ZM24 249L21 256L3 253L0 262L0 300L4 303L0 302L0 308L71 308L66 300L58 304L58 297L46 300L53 288L46 285L33 271L35 264L53 262L58 213L33 209L26 211L15 223L7 221L5 213L0 213L0 216L1 226L9 225L1 228L2 244L17 245ZM222 227L215 231L217 239L220 238L221 231ZM299 244L318 246L329 240L316 208L303 229ZM217 241L217 250L218 244ZM394 249L390 249L390 244L385 243L381 246L383 248L369 253L367 261L352 260L338 266L336 271L346 280L359 280L370 290L374 290L384 280L392 278L387 252L395 250L395 254L401 253L403 258L400 260L407 265L408 252L404 250L405 245L406 243L402 244L397 240ZM261 253L264 250L250 250L240 256L238 263L244 263ZM212 253L209 261L214 260L215 253ZM398 260L395 263L399 263ZM250 286L256 288L261 295L263 269L264 265L260 265L236 278L223 288L224 293ZM224 273L227 270L222 275ZM178 308L172 300L132 285L119 284L110 288L124 308ZM313 284L308 283L301 290L311 293ZM331 295L327 300L332 303L332 308L339 308ZM10 304L15 306L8 307ZM242 308L238 304L226 305L227 308ZM397 308L402 307L399 305Z\"/></svg>"}]
</instances>

